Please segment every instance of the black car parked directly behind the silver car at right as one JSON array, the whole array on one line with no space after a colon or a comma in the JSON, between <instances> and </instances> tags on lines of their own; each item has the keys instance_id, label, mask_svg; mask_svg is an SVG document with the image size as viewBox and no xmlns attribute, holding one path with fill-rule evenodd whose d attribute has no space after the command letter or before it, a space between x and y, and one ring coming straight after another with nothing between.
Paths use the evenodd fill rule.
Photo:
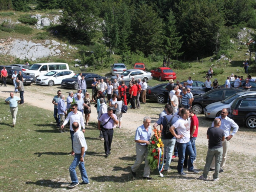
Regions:
<instances>
[{"instance_id":1,"label":"black car parked directly behind the silver car at right","mask_svg":"<svg viewBox=\"0 0 256 192\"><path fill-rule=\"evenodd\" d=\"M192 109L195 114L201 114L208 104L225 100L229 96L242 91L244 90L235 88L212 89L203 95L195 96L192 102Z\"/></svg>"}]
</instances>

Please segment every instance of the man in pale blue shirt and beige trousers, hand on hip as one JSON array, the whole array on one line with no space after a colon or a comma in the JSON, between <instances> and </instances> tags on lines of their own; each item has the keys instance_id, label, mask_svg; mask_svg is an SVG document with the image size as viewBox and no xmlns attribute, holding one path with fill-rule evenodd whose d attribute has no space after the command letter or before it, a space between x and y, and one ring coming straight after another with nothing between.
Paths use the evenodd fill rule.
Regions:
<instances>
[{"instance_id":1,"label":"man in pale blue shirt and beige trousers, hand on hip","mask_svg":"<svg viewBox=\"0 0 256 192\"><path fill-rule=\"evenodd\" d=\"M232 119L227 117L228 111L227 109L221 110L221 116L216 117L221 119L221 125L220 129L222 129L225 133L225 140L222 141L222 147L223 147L223 154L222 154L222 162L221 162L221 168L220 168L220 173L223 173L224 166L226 164L226 159L227 159L227 152L230 144L230 139L238 132L239 126L237 123L235 123ZM211 126L214 126L214 123L211 124ZM231 127L233 127L233 132L230 133ZM212 163L210 165L210 170L215 169L215 159L212 160Z\"/></svg>"}]
</instances>

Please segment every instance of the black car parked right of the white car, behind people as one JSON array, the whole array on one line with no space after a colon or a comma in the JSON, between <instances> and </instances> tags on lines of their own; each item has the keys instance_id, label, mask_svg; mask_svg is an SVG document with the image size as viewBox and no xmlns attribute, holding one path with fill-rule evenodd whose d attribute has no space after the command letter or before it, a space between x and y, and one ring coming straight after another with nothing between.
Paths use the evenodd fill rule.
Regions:
<instances>
[{"instance_id":1,"label":"black car parked right of the white car, behind people","mask_svg":"<svg viewBox=\"0 0 256 192\"><path fill-rule=\"evenodd\" d=\"M77 83L77 76L76 74L71 78L63 79L61 81L61 87L63 88L71 88L71 89L78 89L78 83ZM92 88L92 80L93 78L96 78L96 80L100 79L106 79L106 77L101 77L100 75L94 74L94 73L82 73L82 76L84 76L84 79L86 80L87 88Z\"/></svg>"}]
</instances>

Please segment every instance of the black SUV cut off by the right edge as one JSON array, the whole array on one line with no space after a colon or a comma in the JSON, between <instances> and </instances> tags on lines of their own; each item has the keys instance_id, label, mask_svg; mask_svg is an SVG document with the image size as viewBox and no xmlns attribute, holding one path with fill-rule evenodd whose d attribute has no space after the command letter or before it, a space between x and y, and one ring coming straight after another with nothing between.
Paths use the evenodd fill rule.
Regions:
<instances>
[{"instance_id":1,"label":"black SUV cut off by the right edge","mask_svg":"<svg viewBox=\"0 0 256 192\"><path fill-rule=\"evenodd\" d=\"M246 124L248 128L256 128L256 96L236 98L230 106L229 117L237 123Z\"/></svg>"}]
</instances>

